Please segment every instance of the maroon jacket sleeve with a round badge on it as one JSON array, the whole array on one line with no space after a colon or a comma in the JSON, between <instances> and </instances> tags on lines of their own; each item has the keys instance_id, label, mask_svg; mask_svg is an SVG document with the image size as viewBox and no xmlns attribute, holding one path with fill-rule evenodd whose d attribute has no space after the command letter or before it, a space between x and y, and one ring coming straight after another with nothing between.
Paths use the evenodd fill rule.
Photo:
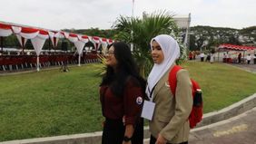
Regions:
<instances>
[{"instance_id":1,"label":"maroon jacket sleeve with a round badge on it","mask_svg":"<svg viewBox=\"0 0 256 144\"><path fill-rule=\"evenodd\" d=\"M143 108L143 90L137 82L129 81L126 84L123 107L125 124L134 125L140 117Z\"/></svg>"}]
</instances>

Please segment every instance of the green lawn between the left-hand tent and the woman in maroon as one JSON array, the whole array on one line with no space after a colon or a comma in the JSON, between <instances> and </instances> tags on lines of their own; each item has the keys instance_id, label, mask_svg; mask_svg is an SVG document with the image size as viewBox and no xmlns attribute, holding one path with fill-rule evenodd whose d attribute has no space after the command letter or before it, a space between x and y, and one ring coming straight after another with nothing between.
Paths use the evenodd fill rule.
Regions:
<instances>
[{"instance_id":1,"label":"green lawn between the left-hand tent and the woman in maroon","mask_svg":"<svg viewBox=\"0 0 256 144\"><path fill-rule=\"evenodd\" d=\"M0 77L0 141L101 130L94 65Z\"/></svg>"}]
</instances>

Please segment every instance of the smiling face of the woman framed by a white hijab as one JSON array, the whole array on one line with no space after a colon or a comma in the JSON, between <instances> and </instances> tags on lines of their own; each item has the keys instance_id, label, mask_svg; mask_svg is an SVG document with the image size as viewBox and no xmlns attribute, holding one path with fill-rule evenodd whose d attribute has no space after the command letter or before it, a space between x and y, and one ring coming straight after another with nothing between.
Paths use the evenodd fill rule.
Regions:
<instances>
[{"instance_id":1,"label":"smiling face of the woman framed by a white hijab","mask_svg":"<svg viewBox=\"0 0 256 144\"><path fill-rule=\"evenodd\" d=\"M156 41L153 41L152 43L151 56L154 63L160 64L163 62L164 55L162 53L162 48L160 47L159 43L157 43Z\"/></svg>"}]
</instances>

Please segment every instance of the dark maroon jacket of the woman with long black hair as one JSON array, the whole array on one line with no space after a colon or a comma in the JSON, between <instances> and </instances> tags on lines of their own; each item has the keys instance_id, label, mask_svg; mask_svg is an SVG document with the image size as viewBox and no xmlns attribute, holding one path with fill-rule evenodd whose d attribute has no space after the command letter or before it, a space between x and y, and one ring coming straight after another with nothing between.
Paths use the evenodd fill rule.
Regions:
<instances>
[{"instance_id":1,"label":"dark maroon jacket of the woman with long black hair","mask_svg":"<svg viewBox=\"0 0 256 144\"><path fill-rule=\"evenodd\" d=\"M108 86L102 86L100 93L105 118L122 120L125 116L125 124L135 124L143 108L143 89L136 80L126 82L123 97L114 96Z\"/></svg>"}]
</instances>

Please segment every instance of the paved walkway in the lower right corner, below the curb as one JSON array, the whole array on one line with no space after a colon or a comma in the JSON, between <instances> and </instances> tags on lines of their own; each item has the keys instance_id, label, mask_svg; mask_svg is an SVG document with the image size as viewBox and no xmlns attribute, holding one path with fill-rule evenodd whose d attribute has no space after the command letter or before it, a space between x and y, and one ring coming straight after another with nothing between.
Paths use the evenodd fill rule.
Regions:
<instances>
[{"instance_id":1,"label":"paved walkway in the lower right corner, below the curb","mask_svg":"<svg viewBox=\"0 0 256 144\"><path fill-rule=\"evenodd\" d=\"M256 107L191 131L190 144L256 144Z\"/></svg>"}]
</instances>

